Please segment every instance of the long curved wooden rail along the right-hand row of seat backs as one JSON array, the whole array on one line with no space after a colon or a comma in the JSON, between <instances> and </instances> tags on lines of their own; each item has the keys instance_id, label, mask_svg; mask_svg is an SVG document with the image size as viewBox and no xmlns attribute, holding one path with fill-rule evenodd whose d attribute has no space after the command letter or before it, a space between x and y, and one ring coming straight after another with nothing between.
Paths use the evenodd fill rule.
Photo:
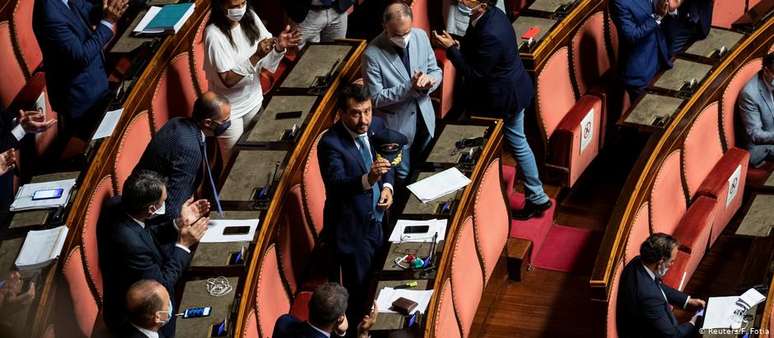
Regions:
<instances>
[{"instance_id":1,"label":"long curved wooden rail along the right-hand row of seat backs","mask_svg":"<svg viewBox=\"0 0 774 338\"><path fill-rule=\"evenodd\" d=\"M707 79L665 129L651 135L629 174L618 203L608 222L591 274L592 299L606 301L615 264L621 259L636 212L647 200L661 163L680 144L696 119L710 102L720 100L731 77L750 59L764 55L774 42L774 20L770 19L739 42L707 76Z\"/></svg>"}]
</instances>

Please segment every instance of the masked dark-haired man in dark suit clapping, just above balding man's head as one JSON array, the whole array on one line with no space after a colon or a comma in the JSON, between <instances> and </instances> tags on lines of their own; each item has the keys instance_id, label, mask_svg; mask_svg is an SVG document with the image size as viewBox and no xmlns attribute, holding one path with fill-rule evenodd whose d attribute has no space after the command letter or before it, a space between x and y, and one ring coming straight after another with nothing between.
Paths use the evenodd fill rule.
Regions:
<instances>
[{"instance_id":1,"label":"masked dark-haired man in dark suit clapping, just above balding man's head","mask_svg":"<svg viewBox=\"0 0 774 338\"><path fill-rule=\"evenodd\" d=\"M100 220L97 238L100 267L105 277L105 324L118 334L127 325L126 294L141 279L152 279L174 295L175 284L191 261L190 248L207 230L210 210L206 200L189 199L172 222L151 225L162 214L167 191L164 178L152 171L137 171L126 179L120 204L109 205ZM175 319L161 329L173 337Z\"/></svg>"}]
</instances>

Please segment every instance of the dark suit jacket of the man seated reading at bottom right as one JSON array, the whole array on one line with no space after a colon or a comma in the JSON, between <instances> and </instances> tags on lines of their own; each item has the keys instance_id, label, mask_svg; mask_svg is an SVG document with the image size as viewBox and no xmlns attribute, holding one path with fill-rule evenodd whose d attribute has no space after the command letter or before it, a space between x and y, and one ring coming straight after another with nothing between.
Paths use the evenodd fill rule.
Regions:
<instances>
[{"instance_id":1,"label":"dark suit jacket of the man seated reading at bottom right","mask_svg":"<svg viewBox=\"0 0 774 338\"><path fill-rule=\"evenodd\" d=\"M688 295L651 278L640 257L635 257L624 268L618 285L618 336L690 337L695 331L693 324L679 324L669 307L683 307L687 301Z\"/></svg>"}]
</instances>

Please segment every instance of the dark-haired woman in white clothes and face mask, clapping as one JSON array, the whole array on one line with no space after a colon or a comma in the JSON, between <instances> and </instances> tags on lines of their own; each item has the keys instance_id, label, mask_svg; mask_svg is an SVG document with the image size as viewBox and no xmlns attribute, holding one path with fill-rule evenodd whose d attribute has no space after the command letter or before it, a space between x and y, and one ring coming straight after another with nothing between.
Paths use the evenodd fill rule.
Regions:
<instances>
[{"instance_id":1,"label":"dark-haired woman in white clothes and face mask, clapping","mask_svg":"<svg viewBox=\"0 0 774 338\"><path fill-rule=\"evenodd\" d=\"M223 163L263 103L261 70L277 70L301 36L290 26L272 37L246 0L215 0L204 32L204 71L209 90L228 98L230 126L217 135Z\"/></svg>"}]
</instances>

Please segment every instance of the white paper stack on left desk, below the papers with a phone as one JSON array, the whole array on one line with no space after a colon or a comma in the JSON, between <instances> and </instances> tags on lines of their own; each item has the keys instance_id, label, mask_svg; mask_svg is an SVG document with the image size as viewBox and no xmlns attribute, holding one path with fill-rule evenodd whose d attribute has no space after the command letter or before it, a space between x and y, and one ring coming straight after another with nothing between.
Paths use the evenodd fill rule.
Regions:
<instances>
[{"instance_id":1,"label":"white paper stack on left desk, below the papers with a phone","mask_svg":"<svg viewBox=\"0 0 774 338\"><path fill-rule=\"evenodd\" d=\"M19 270L32 270L48 265L59 257L67 238L67 226L30 231L24 239L21 252L16 257Z\"/></svg>"}]
</instances>

